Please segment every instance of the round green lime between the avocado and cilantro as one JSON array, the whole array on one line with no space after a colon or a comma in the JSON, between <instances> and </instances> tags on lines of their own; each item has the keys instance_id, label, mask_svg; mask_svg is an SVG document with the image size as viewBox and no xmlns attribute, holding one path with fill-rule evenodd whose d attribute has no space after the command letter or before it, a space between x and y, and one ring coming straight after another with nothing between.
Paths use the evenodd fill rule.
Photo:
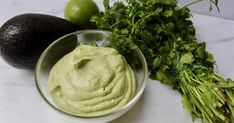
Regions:
<instances>
[{"instance_id":1,"label":"round green lime between the avocado and cilantro","mask_svg":"<svg viewBox=\"0 0 234 123\"><path fill-rule=\"evenodd\" d=\"M92 0L70 0L64 11L67 20L80 29L90 28L90 18L99 12L97 4Z\"/></svg>"}]
</instances>

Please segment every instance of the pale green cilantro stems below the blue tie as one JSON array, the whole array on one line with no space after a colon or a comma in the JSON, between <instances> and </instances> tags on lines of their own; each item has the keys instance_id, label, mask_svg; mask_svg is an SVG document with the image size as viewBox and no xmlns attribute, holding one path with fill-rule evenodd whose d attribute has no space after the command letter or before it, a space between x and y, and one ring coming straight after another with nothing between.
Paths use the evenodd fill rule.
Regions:
<instances>
[{"instance_id":1,"label":"pale green cilantro stems below the blue tie","mask_svg":"<svg viewBox=\"0 0 234 123\"><path fill-rule=\"evenodd\" d=\"M207 122L213 123L215 121L228 121L228 118L225 116L225 114L223 114L223 111L221 112L217 109L219 107L223 107L226 104L223 92L221 92L218 88L215 89L211 86L202 86L202 84L193 85L193 81L195 80L195 83L197 83L199 80L196 79L199 78L197 78L190 69L182 71L179 78L181 80L181 83L179 84L182 87L183 94L190 95L190 99L194 105L199 108L201 115ZM204 81L198 83L204 83ZM212 95L216 97L214 98L215 100L212 99L213 101L209 100L209 97L213 97ZM228 95L232 97L231 94ZM196 112L195 109L193 109L193 111ZM198 114L196 113L196 115Z\"/></svg>"}]
</instances>

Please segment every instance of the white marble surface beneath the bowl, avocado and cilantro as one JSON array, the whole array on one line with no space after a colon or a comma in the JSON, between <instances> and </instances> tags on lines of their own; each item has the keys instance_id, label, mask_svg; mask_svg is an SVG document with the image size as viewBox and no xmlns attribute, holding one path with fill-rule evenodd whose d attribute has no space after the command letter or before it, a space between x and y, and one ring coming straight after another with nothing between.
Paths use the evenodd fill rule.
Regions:
<instances>
[{"instance_id":1,"label":"white marble surface beneath the bowl, avocado and cilantro","mask_svg":"<svg viewBox=\"0 0 234 123\"><path fill-rule=\"evenodd\" d=\"M97 0L100 3L101 0ZM28 12L63 17L67 0L0 0L0 26ZM219 73L234 78L234 21L194 14L197 37L207 42ZM149 80L140 101L111 123L192 123L180 95L158 81ZM12 68L0 58L0 123L67 123L53 115L37 92L34 72Z\"/></svg>"}]
</instances>

